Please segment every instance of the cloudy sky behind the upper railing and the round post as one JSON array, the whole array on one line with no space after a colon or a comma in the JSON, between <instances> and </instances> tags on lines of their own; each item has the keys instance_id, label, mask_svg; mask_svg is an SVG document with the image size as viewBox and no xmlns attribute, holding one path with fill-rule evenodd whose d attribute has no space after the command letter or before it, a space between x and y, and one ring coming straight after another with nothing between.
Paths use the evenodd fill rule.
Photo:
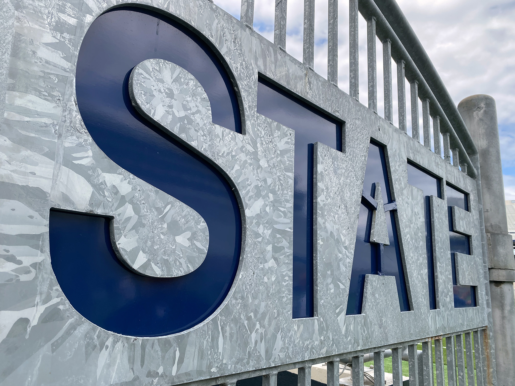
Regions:
<instances>
[{"instance_id":1,"label":"cloudy sky behind the upper railing and the round post","mask_svg":"<svg viewBox=\"0 0 515 386\"><path fill-rule=\"evenodd\" d=\"M239 0L214 1L239 19ZM274 0L255 0L255 3L254 29L273 41ZM505 194L506 199L515 200L515 1L398 0L398 3L456 104L473 94L489 94L495 98ZM286 51L300 61L303 4L303 0L288 0ZM338 85L346 92L349 92L348 22L348 0L340 0ZM359 23L360 100L367 104L366 23L363 18ZM315 42L315 71L325 77L327 0L316 2ZM382 85L382 51L381 44L377 43L377 81ZM394 64L392 70L395 74ZM397 89L395 82L393 87ZM382 93L381 89L377 90L380 115L383 115ZM397 116L396 100L394 106L394 116ZM409 103L407 107L409 109ZM397 125L397 121L394 124Z\"/></svg>"}]
</instances>

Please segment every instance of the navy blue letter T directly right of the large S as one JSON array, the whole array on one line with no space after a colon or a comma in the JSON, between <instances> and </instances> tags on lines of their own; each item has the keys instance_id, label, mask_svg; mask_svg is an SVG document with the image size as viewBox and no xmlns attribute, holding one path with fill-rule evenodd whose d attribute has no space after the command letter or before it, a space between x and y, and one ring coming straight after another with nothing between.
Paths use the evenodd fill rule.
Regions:
<instances>
[{"instance_id":1,"label":"navy blue letter T directly right of the large S","mask_svg":"<svg viewBox=\"0 0 515 386\"><path fill-rule=\"evenodd\" d=\"M313 317L313 144L341 151L342 124L261 77L258 113L295 130L293 317Z\"/></svg>"}]
</instances>

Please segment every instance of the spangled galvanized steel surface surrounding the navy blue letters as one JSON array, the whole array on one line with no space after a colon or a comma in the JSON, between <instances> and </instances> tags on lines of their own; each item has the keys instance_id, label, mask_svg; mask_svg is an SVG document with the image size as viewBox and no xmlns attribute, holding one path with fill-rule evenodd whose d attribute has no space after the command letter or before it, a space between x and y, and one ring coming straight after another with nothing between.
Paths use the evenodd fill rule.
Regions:
<instances>
[{"instance_id":1,"label":"spangled galvanized steel surface surrounding the navy blue letters","mask_svg":"<svg viewBox=\"0 0 515 386\"><path fill-rule=\"evenodd\" d=\"M137 5L177 17L220 52L241 97L243 134L211 123L203 90L177 65L142 63L133 73L132 86L142 111L216 164L241 197L244 240L231 292L210 318L168 337L117 335L78 314L61 292L50 265L49 208L116 217L114 206L106 206L108 197L114 197L112 187L116 184L123 185L127 192L140 189L143 200L162 194L131 177L102 153L76 107L74 81L80 42L95 17L121 4L127 3L24 0L17 5L14 16L0 16L2 25L14 20L15 31L12 38L10 30L2 36L2 41L12 39L12 53L4 52L2 58L3 63L9 63L9 75L0 133L0 256L4 283L0 340L4 349L9 347L9 358L0 364L0 384L180 384L487 325L484 286L477 287L478 307L454 308L447 204L436 197L432 197L432 218L438 309L429 309L425 254L421 255L426 250L423 196L420 189L407 184L406 162L410 160L469 192L470 219L460 226L472 235L474 255L470 260L480 266L483 256L475 181L204 0ZM279 32L282 42L282 29ZM144 65L148 69L145 74L140 71ZM147 110L149 105L144 100L153 91L144 84L163 84L168 79L166 68L170 74L178 74L172 80L176 94L197 109L184 111L194 125L178 121L173 125L173 114L170 120L161 122L163 116ZM315 148L314 318L291 318L295 132L256 113L258 72L346 122L344 152L322 144ZM166 93L163 89L162 95L175 97ZM346 316L370 139L383 144L387 152L411 311L400 312L392 277L368 275L364 313ZM49 147L52 156L42 155ZM102 194L92 202L93 191ZM187 207L171 196L166 199L160 210L170 204L176 205L177 216L187 212ZM190 216L192 224L201 224L195 214ZM197 236L192 233L192 237L198 237L204 246L207 229L202 232ZM122 237L127 239L123 228L115 227L115 235L120 247L125 248L120 241ZM169 241L173 245L173 240ZM139 255L143 247L138 244L137 248ZM195 256L200 255L197 250ZM128 256L134 265L134 256ZM190 257L188 261L198 261ZM165 261L159 256L152 259L157 267ZM163 272L173 272L172 266L163 265ZM2 355L6 356L7 351Z\"/></svg>"}]
</instances>

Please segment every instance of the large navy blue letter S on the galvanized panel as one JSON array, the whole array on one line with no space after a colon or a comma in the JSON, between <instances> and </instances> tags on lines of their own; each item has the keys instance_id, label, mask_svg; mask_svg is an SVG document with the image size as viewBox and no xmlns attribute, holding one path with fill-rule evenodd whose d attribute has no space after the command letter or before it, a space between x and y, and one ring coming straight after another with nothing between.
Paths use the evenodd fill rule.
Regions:
<instances>
[{"instance_id":1,"label":"large navy blue letter S on the galvanized panel","mask_svg":"<svg viewBox=\"0 0 515 386\"><path fill-rule=\"evenodd\" d=\"M77 63L77 103L85 126L112 161L195 209L210 232L207 256L197 270L149 278L118 261L109 218L50 213L52 267L67 299L92 323L138 337L174 334L208 318L232 286L242 244L238 201L225 177L132 107L128 76L150 58L174 62L197 77L213 121L241 131L229 76L192 31L142 8L116 8L93 22Z\"/></svg>"}]
</instances>

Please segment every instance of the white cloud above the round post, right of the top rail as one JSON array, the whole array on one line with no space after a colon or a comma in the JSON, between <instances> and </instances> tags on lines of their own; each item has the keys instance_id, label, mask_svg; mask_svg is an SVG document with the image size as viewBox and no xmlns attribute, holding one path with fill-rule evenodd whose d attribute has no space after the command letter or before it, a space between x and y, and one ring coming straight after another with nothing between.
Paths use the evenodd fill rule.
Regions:
<instances>
[{"instance_id":1,"label":"white cloud above the round post, right of the top rail","mask_svg":"<svg viewBox=\"0 0 515 386\"><path fill-rule=\"evenodd\" d=\"M489 94L515 124L515 2L399 0L454 101Z\"/></svg>"}]
</instances>

